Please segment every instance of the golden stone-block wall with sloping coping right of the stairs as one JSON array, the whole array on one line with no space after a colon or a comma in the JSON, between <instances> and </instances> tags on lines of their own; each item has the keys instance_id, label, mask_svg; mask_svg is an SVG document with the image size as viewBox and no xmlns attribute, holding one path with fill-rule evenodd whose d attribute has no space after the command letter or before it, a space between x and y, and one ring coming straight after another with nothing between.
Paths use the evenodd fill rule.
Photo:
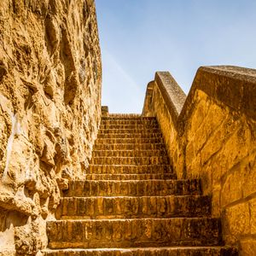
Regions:
<instances>
[{"instance_id":1,"label":"golden stone-block wall with sloping coping right of the stairs","mask_svg":"<svg viewBox=\"0 0 256 256\"><path fill-rule=\"evenodd\" d=\"M143 108L160 122L177 177L201 178L224 241L248 256L256 253L255 99L255 70L201 67L187 98L169 73L156 73Z\"/></svg>"}]
</instances>

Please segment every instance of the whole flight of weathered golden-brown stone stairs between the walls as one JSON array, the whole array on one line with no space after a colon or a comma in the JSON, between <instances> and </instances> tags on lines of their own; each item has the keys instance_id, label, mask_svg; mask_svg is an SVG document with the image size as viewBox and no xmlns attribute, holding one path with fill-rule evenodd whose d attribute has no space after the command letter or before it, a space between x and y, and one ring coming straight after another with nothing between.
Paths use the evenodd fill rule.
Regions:
<instances>
[{"instance_id":1,"label":"whole flight of weathered golden-brown stone stairs between the walls","mask_svg":"<svg viewBox=\"0 0 256 256\"><path fill-rule=\"evenodd\" d=\"M177 180L159 125L139 115L102 117L84 181L71 181L47 223L47 256L238 255L199 180Z\"/></svg>"}]
</instances>

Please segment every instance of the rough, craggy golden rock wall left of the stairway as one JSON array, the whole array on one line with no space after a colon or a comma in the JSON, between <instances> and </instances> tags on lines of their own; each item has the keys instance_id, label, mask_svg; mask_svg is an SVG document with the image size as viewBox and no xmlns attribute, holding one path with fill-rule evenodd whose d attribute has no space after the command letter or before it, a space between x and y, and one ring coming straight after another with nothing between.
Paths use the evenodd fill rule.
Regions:
<instances>
[{"instance_id":1,"label":"rough, craggy golden rock wall left of the stairway","mask_svg":"<svg viewBox=\"0 0 256 256\"><path fill-rule=\"evenodd\" d=\"M1 2L0 251L45 246L61 178L86 172L101 83L93 0Z\"/></svg>"}]
</instances>

